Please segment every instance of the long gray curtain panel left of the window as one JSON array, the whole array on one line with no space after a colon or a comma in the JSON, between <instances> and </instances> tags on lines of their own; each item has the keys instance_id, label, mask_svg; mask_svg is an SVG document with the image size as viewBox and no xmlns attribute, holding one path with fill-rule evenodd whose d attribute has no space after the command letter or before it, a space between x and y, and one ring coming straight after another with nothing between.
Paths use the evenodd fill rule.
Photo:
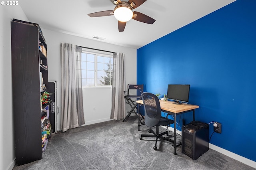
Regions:
<instances>
[{"instance_id":1,"label":"long gray curtain panel left of the window","mask_svg":"<svg viewBox=\"0 0 256 170\"><path fill-rule=\"evenodd\" d=\"M78 75L76 75L78 55L75 50L76 45L61 43L61 129L63 132L84 124L84 112L80 108L82 92L77 88L81 81L78 81Z\"/></svg>"}]
</instances>

